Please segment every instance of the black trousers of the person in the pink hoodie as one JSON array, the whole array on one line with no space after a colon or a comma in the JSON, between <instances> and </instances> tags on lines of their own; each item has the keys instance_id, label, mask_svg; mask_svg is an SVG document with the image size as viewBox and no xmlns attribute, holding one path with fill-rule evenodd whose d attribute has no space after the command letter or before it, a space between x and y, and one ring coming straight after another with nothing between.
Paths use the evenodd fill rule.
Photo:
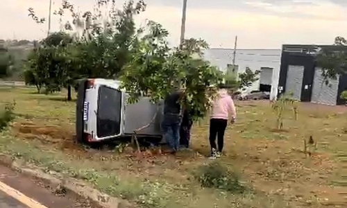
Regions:
<instances>
[{"instance_id":1,"label":"black trousers of the person in the pink hoodie","mask_svg":"<svg viewBox=\"0 0 347 208\"><path fill-rule=\"evenodd\" d=\"M214 148L221 152L224 145L224 132L226 132L226 125L228 120L226 119L210 119L210 146L211 149ZM216 137L217 144L216 145Z\"/></svg>"}]
</instances>

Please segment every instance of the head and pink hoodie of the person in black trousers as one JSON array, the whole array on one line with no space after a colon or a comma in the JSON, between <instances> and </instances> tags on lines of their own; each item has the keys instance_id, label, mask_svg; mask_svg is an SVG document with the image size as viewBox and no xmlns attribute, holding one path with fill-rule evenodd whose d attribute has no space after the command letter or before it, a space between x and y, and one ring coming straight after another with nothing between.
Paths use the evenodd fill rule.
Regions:
<instances>
[{"instance_id":1,"label":"head and pink hoodie of the person in black trousers","mask_svg":"<svg viewBox=\"0 0 347 208\"><path fill-rule=\"evenodd\" d=\"M229 119L229 113L236 119L234 101L226 89L219 89L218 96L212 104L211 119Z\"/></svg>"}]
</instances>

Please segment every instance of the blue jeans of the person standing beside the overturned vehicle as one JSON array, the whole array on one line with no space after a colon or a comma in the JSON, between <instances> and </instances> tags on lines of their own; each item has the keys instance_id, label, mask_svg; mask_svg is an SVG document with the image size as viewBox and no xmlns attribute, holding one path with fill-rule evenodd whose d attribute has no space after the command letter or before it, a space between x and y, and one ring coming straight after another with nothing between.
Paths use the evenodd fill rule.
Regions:
<instances>
[{"instance_id":1,"label":"blue jeans of the person standing beside the overturned vehicle","mask_svg":"<svg viewBox=\"0 0 347 208\"><path fill-rule=\"evenodd\" d=\"M180 116L178 114L164 114L162 132L170 148L177 151L180 146Z\"/></svg>"}]
</instances>

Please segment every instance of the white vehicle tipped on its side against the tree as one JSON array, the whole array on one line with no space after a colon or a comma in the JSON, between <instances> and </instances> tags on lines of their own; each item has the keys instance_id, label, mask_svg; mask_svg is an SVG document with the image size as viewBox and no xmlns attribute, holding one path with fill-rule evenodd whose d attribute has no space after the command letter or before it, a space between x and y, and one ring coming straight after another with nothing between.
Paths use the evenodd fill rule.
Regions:
<instances>
[{"instance_id":1,"label":"white vehicle tipped on its side against the tree","mask_svg":"<svg viewBox=\"0 0 347 208\"><path fill-rule=\"evenodd\" d=\"M119 89L118 80L101 78L82 80L76 104L76 137L80 142L95 142L128 137L133 131L151 123L138 132L139 137L162 138L162 103L153 104L148 97L127 104L126 91Z\"/></svg>"}]
</instances>

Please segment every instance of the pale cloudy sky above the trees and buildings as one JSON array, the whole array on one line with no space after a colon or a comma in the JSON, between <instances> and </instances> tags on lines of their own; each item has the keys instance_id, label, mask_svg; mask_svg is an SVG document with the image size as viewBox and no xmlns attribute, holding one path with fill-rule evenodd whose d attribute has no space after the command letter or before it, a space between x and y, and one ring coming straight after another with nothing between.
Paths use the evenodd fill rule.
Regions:
<instances>
[{"instance_id":1,"label":"pale cloudy sky above the trees and buildings","mask_svg":"<svg viewBox=\"0 0 347 208\"><path fill-rule=\"evenodd\" d=\"M61 0L52 0L52 11ZM81 12L92 10L96 0L70 0ZM117 1L117 0L116 0ZM145 0L146 1L146 0ZM124 0L118 0L124 3ZM147 8L136 17L157 21L177 45L183 0L147 0ZM48 24L37 25L28 8L47 18L49 0L1 0L0 39L38 40ZM67 21L64 19L63 21ZM52 16L52 31L60 28ZM282 44L332 44L336 36L347 36L346 0L188 0L185 37L203 38L212 48L280 49Z\"/></svg>"}]
</instances>

